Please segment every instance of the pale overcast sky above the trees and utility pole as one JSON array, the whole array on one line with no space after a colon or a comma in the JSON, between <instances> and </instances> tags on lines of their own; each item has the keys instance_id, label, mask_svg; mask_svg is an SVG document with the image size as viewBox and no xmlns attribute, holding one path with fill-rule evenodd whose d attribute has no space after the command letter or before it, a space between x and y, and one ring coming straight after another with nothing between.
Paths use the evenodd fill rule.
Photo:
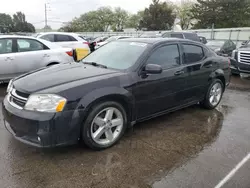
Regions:
<instances>
[{"instance_id":1,"label":"pale overcast sky above the trees and utility pole","mask_svg":"<svg viewBox=\"0 0 250 188\"><path fill-rule=\"evenodd\" d=\"M152 0L3 0L0 13L25 13L26 20L36 28L44 27L44 4L48 3L48 25L54 29L74 17L101 6L121 7L131 13L147 7ZM51 22L53 21L53 22Z\"/></svg>"}]
</instances>

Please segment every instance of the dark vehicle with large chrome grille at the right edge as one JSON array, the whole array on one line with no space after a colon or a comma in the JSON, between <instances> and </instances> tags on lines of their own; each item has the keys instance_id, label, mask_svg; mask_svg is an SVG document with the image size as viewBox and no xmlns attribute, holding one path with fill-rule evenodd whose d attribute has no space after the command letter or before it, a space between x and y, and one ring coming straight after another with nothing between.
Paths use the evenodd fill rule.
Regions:
<instances>
[{"instance_id":1,"label":"dark vehicle with large chrome grille at the right edge","mask_svg":"<svg viewBox=\"0 0 250 188\"><path fill-rule=\"evenodd\" d=\"M231 71L235 75L250 74L250 43L246 42L232 52Z\"/></svg>"}]
</instances>

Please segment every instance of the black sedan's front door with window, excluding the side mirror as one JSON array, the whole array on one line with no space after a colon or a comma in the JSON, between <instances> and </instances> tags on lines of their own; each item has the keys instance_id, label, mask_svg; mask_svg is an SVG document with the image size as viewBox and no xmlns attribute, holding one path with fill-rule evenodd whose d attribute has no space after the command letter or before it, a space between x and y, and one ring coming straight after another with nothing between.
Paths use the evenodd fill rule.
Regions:
<instances>
[{"instance_id":1,"label":"black sedan's front door with window, excluding the side mirror","mask_svg":"<svg viewBox=\"0 0 250 188\"><path fill-rule=\"evenodd\" d=\"M161 74L139 73L134 89L137 119L176 107L185 99L185 70L181 66L179 45L176 43L158 47L152 52L146 64L158 64Z\"/></svg>"}]
</instances>

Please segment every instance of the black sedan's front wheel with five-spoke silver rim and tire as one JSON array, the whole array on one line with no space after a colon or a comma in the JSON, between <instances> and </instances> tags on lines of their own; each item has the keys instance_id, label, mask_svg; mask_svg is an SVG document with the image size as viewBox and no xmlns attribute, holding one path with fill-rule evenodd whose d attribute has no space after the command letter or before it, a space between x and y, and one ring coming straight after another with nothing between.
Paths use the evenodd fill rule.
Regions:
<instances>
[{"instance_id":1,"label":"black sedan's front wheel with five-spoke silver rim and tire","mask_svg":"<svg viewBox=\"0 0 250 188\"><path fill-rule=\"evenodd\" d=\"M112 110L111 117L108 114L111 114ZM115 122L121 123L115 127ZM84 144L94 150L106 149L116 144L123 136L127 128L127 113L117 102L99 103L91 108L82 126L81 137Z\"/></svg>"}]
</instances>

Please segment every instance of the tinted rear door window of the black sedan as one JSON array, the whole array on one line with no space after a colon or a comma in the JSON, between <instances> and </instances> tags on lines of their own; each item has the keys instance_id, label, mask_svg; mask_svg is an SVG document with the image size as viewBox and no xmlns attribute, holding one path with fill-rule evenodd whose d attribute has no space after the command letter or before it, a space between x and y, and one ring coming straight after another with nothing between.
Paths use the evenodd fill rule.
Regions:
<instances>
[{"instance_id":1,"label":"tinted rear door window of the black sedan","mask_svg":"<svg viewBox=\"0 0 250 188\"><path fill-rule=\"evenodd\" d=\"M204 57L203 49L200 46L184 44L183 51L186 64L198 62Z\"/></svg>"}]
</instances>

